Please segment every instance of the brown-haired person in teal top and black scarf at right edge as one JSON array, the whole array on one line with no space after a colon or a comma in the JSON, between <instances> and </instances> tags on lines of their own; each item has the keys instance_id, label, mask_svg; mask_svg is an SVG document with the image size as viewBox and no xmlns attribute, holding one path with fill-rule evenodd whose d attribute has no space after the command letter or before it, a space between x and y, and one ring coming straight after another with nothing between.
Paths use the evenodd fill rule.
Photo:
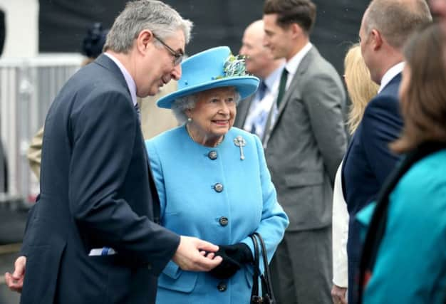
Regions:
<instances>
[{"instance_id":1,"label":"brown-haired person in teal top and black scarf at right edge","mask_svg":"<svg viewBox=\"0 0 446 304\"><path fill-rule=\"evenodd\" d=\"M361 258L364 304L446 303L445 38L430 24L404 48L400 103L405 127L390 147L404 153L376 204Z\"/></svg>"}]
</instances>

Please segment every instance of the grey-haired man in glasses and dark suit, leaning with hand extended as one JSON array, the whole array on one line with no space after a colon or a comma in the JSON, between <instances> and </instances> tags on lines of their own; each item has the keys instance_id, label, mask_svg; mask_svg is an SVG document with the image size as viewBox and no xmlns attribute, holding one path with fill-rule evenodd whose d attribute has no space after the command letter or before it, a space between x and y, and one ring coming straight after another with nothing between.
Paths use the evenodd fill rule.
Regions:
<instances>
[{"instance_id":1,"label":"grey-haired man in glasses and dark suit, leaning with hand extended","mask_svg":"<svg viewBox=\"0 0 446 304\"><path fill-rule=\"evenodd\" d=\"M180 78L191 27L160 1L129 2L105 53L54 100L24 256L6 274L11 289L23 283L21 303L155 303L157 276L171 259L193 271L221 262L202 255L218 246L157 224L136 103Z\"/></svg>"}]
</instances>

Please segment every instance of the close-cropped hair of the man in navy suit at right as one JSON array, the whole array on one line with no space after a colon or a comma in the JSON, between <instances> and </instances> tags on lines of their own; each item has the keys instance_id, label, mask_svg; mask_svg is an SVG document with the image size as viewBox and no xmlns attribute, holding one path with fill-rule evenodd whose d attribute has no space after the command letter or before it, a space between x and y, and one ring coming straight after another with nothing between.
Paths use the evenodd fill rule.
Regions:
<instances>
[{"instance_id":1,"label":"close-cropped hair of the man in navy suit at right","mask_svg":"<svg viewBox=\"0 0 446 304\"><path fill-rule=\"evenodd\" d=\"M431 21L425 0L373 0L365 13L364 28L367 35L378 30L390 46L401 49L417 28Z\"/></svg>"}]
</instances>

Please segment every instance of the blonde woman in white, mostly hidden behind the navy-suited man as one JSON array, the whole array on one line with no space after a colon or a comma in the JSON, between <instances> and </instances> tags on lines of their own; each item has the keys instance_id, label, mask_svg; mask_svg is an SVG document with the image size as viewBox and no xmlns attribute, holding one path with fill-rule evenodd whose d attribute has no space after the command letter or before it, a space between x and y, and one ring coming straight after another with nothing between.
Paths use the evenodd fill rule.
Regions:
<instances>
[{"instance_id":1,"label":"blonde woman in white, mostly hidden behind the navy-suited man","mask_svg":"<svg viewBox=\"0 0 446 304\"><path fill-rule=\"evenodd\" d=\"M351 108L348 112L348 131L351 135L363 118L365 106L376 93L378 85L370 78L370 72L361 56L361 47L358 43L351 46L344 59L344 80L347 92L351 99ZM333 288L331 297L333 303L347 303L346 291L348 287L347 268L347 239L348 239L348 211L342 193L341 167L336 173L333 193Z\"/></svg>"}]
</instances>

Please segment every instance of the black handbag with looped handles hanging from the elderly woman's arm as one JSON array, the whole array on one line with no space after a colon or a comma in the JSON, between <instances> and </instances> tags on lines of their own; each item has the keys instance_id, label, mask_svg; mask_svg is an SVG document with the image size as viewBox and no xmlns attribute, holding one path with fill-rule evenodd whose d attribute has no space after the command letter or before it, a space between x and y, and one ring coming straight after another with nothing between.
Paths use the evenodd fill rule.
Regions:
<instances>
[{"instance_id":1,"label":"black handbag with looped handles hanging from the elderly woman's arm","mask_svg":"<svg viewBox=\"0 0 446 304\"><path fill-rule=\"evenodd\" d=\"M261 235L257 232L249 236L254 243L254 275L252 276L251 300L249 303L276 304L274 299L271 277L269 274L266 247ZM260 259L264 263L264 273L260 274ZM259 278L261 290L259 290Z\"/></svg>"}]
</instances>

